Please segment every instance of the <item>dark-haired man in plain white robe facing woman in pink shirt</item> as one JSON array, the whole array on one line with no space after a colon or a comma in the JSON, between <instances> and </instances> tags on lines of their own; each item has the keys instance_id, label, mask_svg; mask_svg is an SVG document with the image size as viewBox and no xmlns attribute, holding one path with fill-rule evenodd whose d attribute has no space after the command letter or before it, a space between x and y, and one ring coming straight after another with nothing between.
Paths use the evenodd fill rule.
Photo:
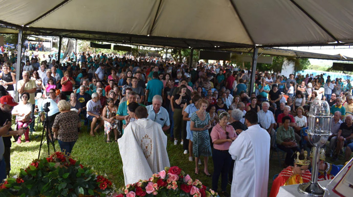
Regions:
<instances>
[{"instance_id":1,"label":"dark-haired man in plain white robe facing woman in pink shirt","mask_svg":"<svg viewBox=\"0 0 353 197\"><path fill-rule=\"evenodd\" d=\"M267 196L269 181L270 135L258 124L257 114L245 114L246 131L229 147L235 160L231 196Z\"/></svg>"}]
</instances>

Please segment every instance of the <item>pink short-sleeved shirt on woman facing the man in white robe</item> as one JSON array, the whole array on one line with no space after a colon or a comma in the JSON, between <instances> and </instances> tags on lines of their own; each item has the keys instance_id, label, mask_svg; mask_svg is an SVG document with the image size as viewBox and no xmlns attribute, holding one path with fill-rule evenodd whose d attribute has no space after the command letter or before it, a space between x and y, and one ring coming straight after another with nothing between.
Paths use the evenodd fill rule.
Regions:
<instances>
[{"instance_id":1,"label":"pink short-sleeved shirt on woman facing the man in white robe","mask_svg":"<svg viewBox=\"0 0 353 197\"><path fill-rule=\"evenodd\" d=\"M226 131L229 133L228 135L229 138L238 137L234 131L234 128L231 125L227 125ZM212 142L216 141L217 139L227 139L226 132L222 129L222 127L219 124L213 127L210 135L212 138ZM232 142L224 142L220 144L213 144L213 147L214 149L217 149L220 151L227 151L229 150L229 146L231 144Z\"/></svg>"}]
</instances>

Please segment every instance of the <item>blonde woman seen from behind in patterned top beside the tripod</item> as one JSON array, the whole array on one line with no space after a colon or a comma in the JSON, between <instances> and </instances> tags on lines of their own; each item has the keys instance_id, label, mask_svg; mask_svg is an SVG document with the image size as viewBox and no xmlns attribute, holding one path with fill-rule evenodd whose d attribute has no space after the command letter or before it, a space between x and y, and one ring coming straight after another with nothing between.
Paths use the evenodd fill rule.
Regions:
<instances>
[{"instance_id":1,"label":"blonde woman seen from behind in patterned top beside the tripod","mask_svg":"<svg viewBox=\"0 0 353 197\"><path fill-rule=\"evenodd\" d=\"M54 120L52 131L54 138L58 139L61 152L71 154L78 139L78 129L81 121L78 114L71 111L71 104L65 100L58 103L59 113Z\"/></svg>"}]
</instances>

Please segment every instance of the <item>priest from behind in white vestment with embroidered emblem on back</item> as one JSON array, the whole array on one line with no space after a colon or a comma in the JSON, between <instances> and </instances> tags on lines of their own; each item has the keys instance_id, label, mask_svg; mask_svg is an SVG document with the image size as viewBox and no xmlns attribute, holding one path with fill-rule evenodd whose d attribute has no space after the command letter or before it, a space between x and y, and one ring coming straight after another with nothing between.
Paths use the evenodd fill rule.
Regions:
<instances>
[{"instance_id":1,"label":"priest from behind in white vestment with embroidered emblem on back","mask_svg":"<svg viewBox=\"0 0 353 197\"><path fill-rule=\"evenodd\" d=\"M125 185L148 180L164 167L170 167L167 136L160 124L147 117L147 109L138 107L135 110L137 120L130 122L118 139Z\"/></svg>"}]
</instances>

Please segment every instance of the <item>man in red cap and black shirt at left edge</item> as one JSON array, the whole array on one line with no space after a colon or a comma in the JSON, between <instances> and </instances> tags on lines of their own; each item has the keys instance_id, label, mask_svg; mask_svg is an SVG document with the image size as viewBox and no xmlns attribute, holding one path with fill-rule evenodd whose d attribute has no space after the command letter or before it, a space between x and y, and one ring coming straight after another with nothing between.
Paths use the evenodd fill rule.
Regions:
<instances>
[{"instance_id":1,"label":"man in red cap and black shirt at left edge","mask_svg":"<svg viewBox=\"0 0 353 197\"><path fill-rule=\"evenodd\" d=\"M10 147L11 136L23 135L26 129L12 131L11 111L18 105L10 95L3 95L0 98L0 182L10 174ZM6 137L6 138L3 138Z\"/></svg>"}]
</instances>

